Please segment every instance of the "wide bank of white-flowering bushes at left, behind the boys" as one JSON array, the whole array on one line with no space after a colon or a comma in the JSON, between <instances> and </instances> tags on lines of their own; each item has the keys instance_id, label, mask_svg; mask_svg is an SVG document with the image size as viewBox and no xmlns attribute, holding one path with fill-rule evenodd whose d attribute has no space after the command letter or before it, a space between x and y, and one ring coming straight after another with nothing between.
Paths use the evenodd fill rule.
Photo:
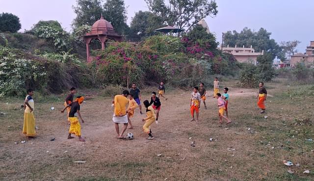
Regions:
<instances>
[{"instance_id":1,"label":"wide bank of white-flowering bushes at left, behind the boys","mask_svg":"<svg viewBox=\"0 0 314 181\"><path fill-rule=\"evenodd\" d=\"M72 56L68 58L74 59ZM24 95L28 87L43 93L60 93L71 86L91 86L90 72L83 64L73 63L75 60L65 64L54 57L57 56L29 56L0 46L0 96Z\"/></svg>"}]
</instances>

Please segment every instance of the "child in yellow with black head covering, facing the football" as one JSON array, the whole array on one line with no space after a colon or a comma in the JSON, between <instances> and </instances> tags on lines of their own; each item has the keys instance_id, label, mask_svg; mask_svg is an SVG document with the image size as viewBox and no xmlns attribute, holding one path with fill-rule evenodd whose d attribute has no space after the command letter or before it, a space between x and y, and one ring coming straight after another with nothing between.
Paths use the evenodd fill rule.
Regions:
<instances>
[{"instance_id":1,"label":"child in yellow with black head covering, facing the football","mask_svg":"<svg viewBox=\"0 0 314 181\"><path fill-rule=\"evenodd\" d=\"M146 118L142 119L142 121L145 122L145 124L143 125L143 130L148 134L148 138L146 139L150 140L154 139L154 136L152 135L151 124L153 124L156 119L155 110L152 106L150 106L148 100L145 100L143 103L146 107Z\"/></svg>"}]
</instances>

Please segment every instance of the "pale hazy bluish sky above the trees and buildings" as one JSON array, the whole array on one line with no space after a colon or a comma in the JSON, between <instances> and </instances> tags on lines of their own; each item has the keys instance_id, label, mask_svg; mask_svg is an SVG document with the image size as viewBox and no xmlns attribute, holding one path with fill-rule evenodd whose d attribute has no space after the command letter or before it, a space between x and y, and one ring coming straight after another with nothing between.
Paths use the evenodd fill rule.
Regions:
<instances>
[{"instance_id":1,"label":"pale hazy bluish sky above the trees and buildings","mask_svg":"<svg viewBox=\"0 0 314 181\"><path fill-rule=\"evenodd\" d=\"M209 29L217 41L221 33L240 31L247 26L259 30L264 27L271 38L281 41L299 40L299 52L314 40L314 0L216 0L218 14L207 17ZM125 0L128 6L128 24L139 10L147 10L144 0ZM0 12L10 12L20 18L22 29L30 29L39 20L57 20L67 30L75 18L72 5L76 0L0 0Z\"/></svg>"}]
</instances>

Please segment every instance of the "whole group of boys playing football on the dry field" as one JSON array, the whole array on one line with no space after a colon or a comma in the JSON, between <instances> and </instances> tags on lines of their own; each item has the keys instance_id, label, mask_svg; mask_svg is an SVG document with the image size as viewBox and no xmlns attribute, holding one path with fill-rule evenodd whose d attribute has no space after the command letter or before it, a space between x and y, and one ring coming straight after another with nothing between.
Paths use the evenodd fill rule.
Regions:
<instances>
[{"instance_id":1,"label":"whole group of boys playing football on the dry field","mask_svg":"<svg viewBox=\"0 0 314 181\"><path fill-rule=\"evenodd\" d=\"M265 112L265 105L264 101L266 100L267 91L263 87L263 82L260 82L259 87L259 95L258 95L258 106L262 109L261 113ZM219 116L219 123L222 124L222 119L225 119L227 121L226 125L232 123L232 121L228 118L228 102L229 102L229 94L228 94L228 87L224 88L224 94L221 95L219 93L219 80L218 78L215 78L214 80L214 96L213 98L218 99L218 116ZM80 115L80 104L83 103L84 97L78 96L75 101L74 95L76 93L76 88L72 87L70 89L70 94L65 99L65 107L61 112L63 113L65 110L67 110L67 117L68 117L68 123L70 124L69 128L69 135L68 139L74 138L71 134L75 134L78 136L79 141L85 141L84 138L81 137L81 131L80 131L80 124L78 121L78 117L84 123L84 120L82 119ZM156 92L152 92L151 101L145 100L143 102L145 108L146 108L146 118L143 118L142 121L145 122L143 125L143 131L148 134L148 140L154 139L152 135L152 130L150 126L156 121L158 123L158 115L161 108L161 103L159 100L159 97L163 97L165 100L167 98L164 97L165 93L165 87L164 83L161 82L158 87L158 97L156 96ZM33 115L34 110L34 101L33 96L34 90L28 89L27 90L27 96L25 98L24 103L24 126L23 126L23 133L26 134L29 138L33 138L36 134L35 131L35 118ZM196 113L196 122L199 122L199 108L201 104L201 100L203 100L205 109L206 107L206 89L204 87L204 83L200 83L200 87L194 87L193 92L191 94L191 101L190 101L190 111L192 120L195 121L194 118L194 112ZM114 97L114 101L112 102L112 106L114 106L114 114L112 121L115 124L115 129L117 132L117 138L124 139L124 132L128 128L128 125L130 126L129 129L133 129L131 118L134 115L134 110L139 107L140 114L142 114L141 109L141 95L140 90L137 88L136 84L132 84L132 88L130 91L124 90L121 95L116 95ZM127 107L127 105L129 106ZM226 112L226 115L224 113ZM119 124L123 124L122 131L119 131Z\"/></svg>"}]
</instances>

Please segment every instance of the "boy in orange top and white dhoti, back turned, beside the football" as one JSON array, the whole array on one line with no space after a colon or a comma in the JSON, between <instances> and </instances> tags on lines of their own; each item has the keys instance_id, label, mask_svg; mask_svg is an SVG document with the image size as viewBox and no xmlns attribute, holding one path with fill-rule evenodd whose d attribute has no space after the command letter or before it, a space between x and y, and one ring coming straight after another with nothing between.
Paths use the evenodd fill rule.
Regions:
<instances>
[{"instance_id":1,"label":"boy in orange top and white dhoti, back turned, beside the football","mask_svg":"<svg viewBox=\"0 0 314 181\"><path fill-rule=\"evenodd\" d=\"M117 138L119 139L124 139L123 133L126 131L129 123L127 116L128 111L126 109L127 104L129 103L129 100L127 98L129 95L130 92L128 90L124 90L122 92L122 95L114 96L114 114L112 117L112 121L118 135ZM123 124L121 133L119 132L119 124Z\"/></svg>"}]
</instances>

